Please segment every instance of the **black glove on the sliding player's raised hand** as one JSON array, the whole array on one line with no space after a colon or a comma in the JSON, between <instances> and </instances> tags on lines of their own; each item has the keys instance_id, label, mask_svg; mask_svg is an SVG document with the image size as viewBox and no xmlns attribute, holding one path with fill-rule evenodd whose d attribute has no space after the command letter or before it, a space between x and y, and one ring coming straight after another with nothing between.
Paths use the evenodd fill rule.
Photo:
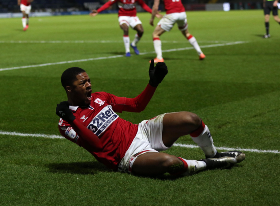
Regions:
<instances>
[{"instance_id":1,"label":"black glove on the sliding player's raised hand","mask_svg":"<svg viewBox=\"0 0 280 206\"><path fill-rule=\"evenodd\" d=\"M152 59L150 64L150 69L149 69L149 75L150 75L149 84L153 87L157 87L167 73L168 73L168 69L164 62L158 62L154 67L154 60Z\"/></svg>"}]
</instances>

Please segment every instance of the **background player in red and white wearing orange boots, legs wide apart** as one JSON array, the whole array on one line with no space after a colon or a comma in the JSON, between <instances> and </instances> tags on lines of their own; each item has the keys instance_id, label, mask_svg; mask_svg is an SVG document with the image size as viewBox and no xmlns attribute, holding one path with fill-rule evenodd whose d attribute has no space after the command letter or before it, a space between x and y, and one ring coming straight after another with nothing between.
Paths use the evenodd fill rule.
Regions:
<instances>
[{"instance_id":1,"label":"background player in red and white wearing orange boots, legs wide apart","mask_svg":"<svg viewBox=\"0 0 280 206\"><path fill-rule=\"evenodd\" d=\"M157 57L154 59L154 61L164 62L164 59L162 58L161 41L159 37L164 32L170 31L175 23L177 23L179 30L187 38L190 44L195 48L199 55L199 59L203 60L205 58L205 55L202 53L195 37L188 32L187 16L181 0L164 0L163 2L166 15L163 16L163 18L158 22L153 32L154 48L157 54ZM152 8L152 17L150 19L150 25L152 26L154 26L154 18L158 12L159 3L160 0L154 0L154 5Z\"/></svg>"}]
</instances>

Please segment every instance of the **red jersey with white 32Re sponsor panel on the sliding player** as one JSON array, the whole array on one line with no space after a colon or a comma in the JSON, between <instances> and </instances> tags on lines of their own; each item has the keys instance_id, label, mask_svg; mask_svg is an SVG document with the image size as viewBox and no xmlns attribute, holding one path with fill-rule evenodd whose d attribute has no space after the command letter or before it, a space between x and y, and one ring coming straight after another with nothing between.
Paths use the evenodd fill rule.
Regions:
<instances>
[{"instance_id":1,"label":"red jersey with white 32Re sponsor panel on the sliding player","mask_svg":"<svg viewBox=\"0 0 280 206\"><path fill-rule=\"evenodd\" d=\"M69 107L76 119L99 137L103 145L101 152L94 152L63 119L59 121L59 131L68 140L88 150L99 162L116 170L138 130L138 125L121 119L115 113L123 111L125 102L125 97L96 92L91 95L90 106Z\"/></svg>"}]
</instances>

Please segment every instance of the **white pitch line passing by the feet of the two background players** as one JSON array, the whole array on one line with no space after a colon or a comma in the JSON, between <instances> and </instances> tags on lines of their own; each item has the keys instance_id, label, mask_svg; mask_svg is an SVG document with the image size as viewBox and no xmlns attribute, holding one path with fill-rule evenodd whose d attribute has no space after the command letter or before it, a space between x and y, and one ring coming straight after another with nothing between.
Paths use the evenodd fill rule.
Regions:
<instances>
[{"instance_id":1,"label":"white pitch line passing by the feet of the two background players","mask_svg":"<svg viewBox=\"0 0 280 206\"><path fill-rule=\"evenodd\" d=\"M209 47L219 47L219 46L244 44L244 43L247 43L247 42L236 41L236 42L228 42L228 43L222 43L222 44L210 44L210 45L205 45L205 46L200 46L200 47L201 48L209 48ZM190 50L190 49L193 49L193 47L169 49L169 50L163 50L162 52L167 53L167 52ZM140 55L146 55L146 54L151 54L151 53L155 53L155 52L154 51L153 52L144 52L144 53L140 53ZM95 60L101 60L101 59L114 59L114 58L120 58L120 57L124 57L124 55L116 55L116 56L108 56L108 57L96 57L96 58L89 58L89 59L78 59L78 60L71 60L71 61L53 62L53 63L45 63L45 64L35 64L35 65L27 65L27 66L20 66L20 67L0 68L0 72L1 71L7 71L7 70L15 70L15 69L25 69L25 68L59 65L59 64L71 64L71 63L77 63L77 62L95 61Z\"/></svg>"}]
</instances>

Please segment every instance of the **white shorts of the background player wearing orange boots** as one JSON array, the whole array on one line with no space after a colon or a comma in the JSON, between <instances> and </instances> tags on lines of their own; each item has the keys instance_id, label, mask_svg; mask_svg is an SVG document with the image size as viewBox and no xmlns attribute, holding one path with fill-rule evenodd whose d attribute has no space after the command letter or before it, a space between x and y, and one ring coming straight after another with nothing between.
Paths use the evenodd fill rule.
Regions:
<instances>
[{"instance_id":1,"label":"white shorts of the background player wearing orange boots","mask_svg":"<svg viewBox=\"0 0 280 206\"><path fill-rule=\"evenodd\" d=\"M174 24L177 23L180 31L185 31L188 28L187 15L185 12L166 14L158 22L157 25L165 31L170 31Z\"/></svg>"}]
</instances>

